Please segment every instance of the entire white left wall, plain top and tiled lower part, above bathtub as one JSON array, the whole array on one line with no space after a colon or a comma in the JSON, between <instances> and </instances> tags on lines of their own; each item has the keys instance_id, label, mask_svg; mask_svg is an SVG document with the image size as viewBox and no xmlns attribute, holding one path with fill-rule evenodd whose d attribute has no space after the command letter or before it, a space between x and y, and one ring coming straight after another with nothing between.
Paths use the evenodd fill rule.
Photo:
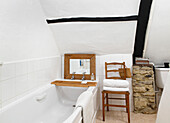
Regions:
<instances>
[{"instance_id":1,"label":"entire white left wall, plain top and tiled lower part, above bathtub","mask_svg":"<svg viewBox=\"0 0 170 123\"><path fill-rule=\"evenodd\" d=\"M1 1L0 110L61 77L61 58L45 19L39 1Z\"/></svg>"}]
</instances>

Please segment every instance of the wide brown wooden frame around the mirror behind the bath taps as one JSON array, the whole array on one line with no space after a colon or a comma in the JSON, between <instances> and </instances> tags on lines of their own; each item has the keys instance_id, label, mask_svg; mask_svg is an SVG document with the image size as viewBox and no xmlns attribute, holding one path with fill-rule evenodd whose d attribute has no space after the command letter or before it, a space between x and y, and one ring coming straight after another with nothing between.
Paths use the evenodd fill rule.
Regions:
<instances>
[{"instance_id":1,"label":"wide brown wooden frame around the mirror behind the bath taps","mask_svg":"<svg viewBox=\"0 0 170 123\"><path fill-rule=\"evenodd\" d=\"M85 74L85 80L91 80L92 73L96 80L96 55L95 54L64 54L64 79L71 79L70 59L90 59L90 74ZM75 74L74 79L81 80L83 74Z\"/></svg>"}]
</instances>

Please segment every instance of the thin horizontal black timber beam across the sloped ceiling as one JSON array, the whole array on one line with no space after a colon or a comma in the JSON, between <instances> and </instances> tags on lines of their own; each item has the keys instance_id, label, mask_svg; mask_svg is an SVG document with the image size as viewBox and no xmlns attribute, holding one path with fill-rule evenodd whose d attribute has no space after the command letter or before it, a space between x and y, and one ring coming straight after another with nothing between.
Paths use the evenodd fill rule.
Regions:
<instances>
[{"instance_id":1,"label":"thin horizontal black timber beam across the sloped ceiling","mask_svg":"<svg viewBox=\"0 0 170 123\"><path fill-rule=\"evenodd\" d=\"M125 16L125 17L74 17L74 18L60 18L60 19L47 19L48 24L64 23L64 22L114 22L114 21L137 21L138 16Z\"/></svg>"}]
</instances>

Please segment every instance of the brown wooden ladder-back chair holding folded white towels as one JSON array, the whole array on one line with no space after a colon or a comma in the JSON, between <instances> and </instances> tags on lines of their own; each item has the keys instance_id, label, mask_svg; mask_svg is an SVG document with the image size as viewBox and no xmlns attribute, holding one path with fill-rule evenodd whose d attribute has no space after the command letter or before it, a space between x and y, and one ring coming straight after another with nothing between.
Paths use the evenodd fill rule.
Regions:
<instances>
[{"instance_id":1,"label":"brown wooden ladder-back chair holding folded white towels","mask_svg":"<svg viewBox=\"0 0 170 123\"><path fill-rule=\"evenodd\" d=\"M121 69L118 70L108 70L108 65L120 65L122 66ZM123 72L124 76L123 77L108 77L108 73L109 72ZM106 79L116 79L116 82L119 82L120 79L125 80L126 81L126 69L125 69L125 62L123 63L107 63L105 62L105 78ZM127 82L127 81L126 81ZM122 94L125 95L125 98L109 98L108 95L110 94ZM105 96L106 95L106 96ZM106 99L106 104L105 104L105 99ZM109 104L109 100L110 99L114 99L114 100L125 100L126 101L126 105L113 105L113 104ZM122 108L126 108L126 112L128 113L128 123L130 123L130 109L129 109L129 88L128 89L122 89L122 88L116 88L116 89L105 89L103 87L103 91L102 91L102 104L103 104L103 121L105 121L105 107L107 107L107 111L109 111L109 106L111 107L122 107Z\"/></svg>"}]
</instances>

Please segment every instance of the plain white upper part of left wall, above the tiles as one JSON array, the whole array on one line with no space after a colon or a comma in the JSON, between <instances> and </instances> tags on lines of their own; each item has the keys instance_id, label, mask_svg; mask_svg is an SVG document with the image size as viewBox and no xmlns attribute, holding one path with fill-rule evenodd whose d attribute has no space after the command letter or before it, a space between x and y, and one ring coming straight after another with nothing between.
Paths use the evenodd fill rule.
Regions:
<instances>
[{"instance_id":1,"label":"plain white upper part of left wall, above the tiles","mask_svg":"<svg viewBox=\"0 0 170 123\"><path fill-rule=\"evenodd\" d=\"M45 19L38 1L1 1L0 61L59 55Z\"/></svg>"}]
</instances>

